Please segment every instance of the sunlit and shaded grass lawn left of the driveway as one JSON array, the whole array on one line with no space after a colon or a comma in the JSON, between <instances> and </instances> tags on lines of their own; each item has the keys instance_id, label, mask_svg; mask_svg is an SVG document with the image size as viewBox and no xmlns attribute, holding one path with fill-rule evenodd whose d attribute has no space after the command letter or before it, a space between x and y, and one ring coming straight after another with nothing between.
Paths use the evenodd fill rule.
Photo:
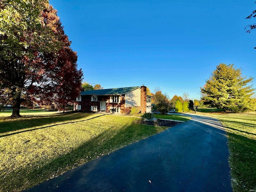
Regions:
<instances>
[{"instance_id":1,"label":"sunlit and shaded grass lawn left of the driveway","mask_svg":"<svg viewBox=\"0 0 256 192\"><path fill-rule=\"evenodd\" d=\"M0 118L0 191L30 188L168 128L137 124L138 118L127 116L26 115Z\"/></svg>"}]
</instances>

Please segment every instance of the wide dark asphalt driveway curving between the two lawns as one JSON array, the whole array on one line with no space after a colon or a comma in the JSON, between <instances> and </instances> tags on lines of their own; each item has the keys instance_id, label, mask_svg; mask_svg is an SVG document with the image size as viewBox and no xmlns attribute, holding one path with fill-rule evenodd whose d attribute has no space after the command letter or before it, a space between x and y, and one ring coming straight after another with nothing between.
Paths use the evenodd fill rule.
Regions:
<instances>
[{"instance_id":1,"label":"wide dark asphalt driveway curving between the two lawns","mask_svg":"<svg viewBox=\"0 0 256 192\"><path fill-rule=\"evenodd\" d=\"M193 116L28 192L232 192L226 132Z\"/></svg>"}]
</instances>

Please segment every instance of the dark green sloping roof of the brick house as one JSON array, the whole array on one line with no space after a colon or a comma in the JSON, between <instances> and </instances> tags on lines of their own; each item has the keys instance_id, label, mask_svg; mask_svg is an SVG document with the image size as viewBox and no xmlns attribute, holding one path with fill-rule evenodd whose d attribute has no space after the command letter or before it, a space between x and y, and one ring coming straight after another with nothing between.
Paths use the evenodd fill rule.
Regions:
<instances>
[{"instance_id":1,"label":"dark green sloping roof of the brick house","mask_svg":"<svg viewBox=\"0 0 256 192\"><path fill-rule=\"evenodd\" d=\"M124 87L124 88L114 88L114 89L90 90L90 91L83 91L80 93L80 95L122 95L136 88L140 88L140 87Z\"/></svg>"}]
</instances>

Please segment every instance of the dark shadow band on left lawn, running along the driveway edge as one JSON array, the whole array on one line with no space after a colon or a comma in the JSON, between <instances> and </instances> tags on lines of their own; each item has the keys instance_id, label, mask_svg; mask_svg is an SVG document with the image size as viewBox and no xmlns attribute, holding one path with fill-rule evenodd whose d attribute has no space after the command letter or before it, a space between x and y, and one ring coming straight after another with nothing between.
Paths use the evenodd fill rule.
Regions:
<instances>
[{"instance_id":1,"label":"dark shadow band on left lawn, running along the driveway edge","mask_svg":"<svg viewBox=\"0 0 256 192\"><path fill-rule=\"evenodd\" d=\"M53 175L58 176L78 165L96 159L98 156L108 154L156 133L158 133L158 130L155 126L140 125L138 128L138 126L134 126L134 123L125 124L119 130L116 130L116 128L106 130L67 154L58 156L50 160L50 162L46 160L38 162L37 164L42 165L42 167L36 167L37 165L34 165L33 170L31 170L31 166L14 170L6 175L4 179L0 178L0 183L2 184L6 180L12 180L9 183L10 186L2 185L0 189L3 191L12 191L30 188L52 178ZM31 178L33 178L32 181Z\"/></svg>"}]
</instances>

